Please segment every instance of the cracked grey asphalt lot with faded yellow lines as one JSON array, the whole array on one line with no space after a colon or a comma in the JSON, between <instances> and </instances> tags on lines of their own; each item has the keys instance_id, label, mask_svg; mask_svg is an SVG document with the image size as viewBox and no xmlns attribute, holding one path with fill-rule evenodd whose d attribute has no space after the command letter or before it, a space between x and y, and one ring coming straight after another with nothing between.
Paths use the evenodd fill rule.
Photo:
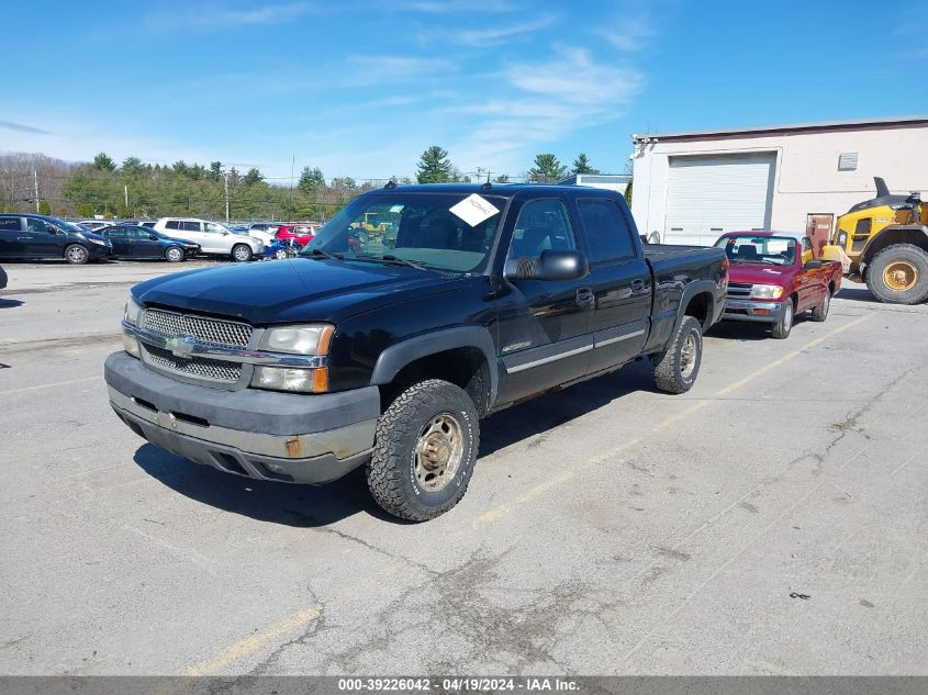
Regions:
<instances>
[{"instance_id":1,"label":"cracked grey asphalt lot with faded yellow lines","mask_svg":"<svg viewBox=\"0 0 928 695\"><path fill-rule=\"evenodd\" d=\"M271 261L286 262L286 261ZM136 437L102 363L132 283L5 265L2 674L928 674L928 306L848 285L482 426L427 524Z\"/></svg>"}]
</instances>

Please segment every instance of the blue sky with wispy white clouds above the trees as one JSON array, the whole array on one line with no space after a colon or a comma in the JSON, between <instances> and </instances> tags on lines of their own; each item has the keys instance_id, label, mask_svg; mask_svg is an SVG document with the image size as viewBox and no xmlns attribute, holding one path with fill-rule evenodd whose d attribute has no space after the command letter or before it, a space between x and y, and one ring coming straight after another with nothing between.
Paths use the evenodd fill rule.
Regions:
<instances>
[{"instance_id":1,"label":"blue sky with wispy white clouds above the trees","mask_svg":"<svg viewBox=\"0 0 928 695\"><path fill-rule=\"evenodd\" d=\"M518 175L629 134L928 113L928 3L8 3L0 150L411 175L438 144Z\"/></svg>"}]
</instances>

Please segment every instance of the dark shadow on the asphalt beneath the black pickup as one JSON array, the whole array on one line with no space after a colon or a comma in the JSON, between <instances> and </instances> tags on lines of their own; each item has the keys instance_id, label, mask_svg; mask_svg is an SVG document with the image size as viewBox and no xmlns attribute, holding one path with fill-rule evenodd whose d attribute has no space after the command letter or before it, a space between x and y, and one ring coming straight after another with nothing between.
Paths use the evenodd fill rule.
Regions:
<instances>
[{"instance_id":1,"label":"dark shadow on the asphalt beneath the black pickup","mask_svg":"<svg viewBox=\"0 0 928 695\"><path fill-rule=\"evenodd\" d=\"M481 424L480 457L547 431L633 391L653 391L650 362L624 369L502 411ZM405 524L385 512L368 492L364 467L325 485L292 485L223 473L150 444L135 463L171 490L203 504L250 518L293 527L318 527L358 513ZM478 461L478 466L480 466Z\"/></svg>"}]
</instances>

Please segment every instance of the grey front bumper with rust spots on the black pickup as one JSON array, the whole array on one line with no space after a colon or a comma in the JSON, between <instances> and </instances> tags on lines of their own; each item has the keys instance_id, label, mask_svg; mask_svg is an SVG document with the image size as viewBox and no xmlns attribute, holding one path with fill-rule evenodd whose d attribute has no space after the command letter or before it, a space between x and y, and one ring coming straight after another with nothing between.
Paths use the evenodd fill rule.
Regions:
<instances>
[{"instance_id":1,"label":"grey front bumper with rust spots on the black pickup","mask_svg":"<svg viewBox=\"0 0 928 695\"><path fill-rule=\"evenodd\" d=\"M226 473L292 483L336 480L370 458L380 392L302 395L186 384L125 352L107 358L110 405L155 446Z\"/></svg>"}]
</instances>

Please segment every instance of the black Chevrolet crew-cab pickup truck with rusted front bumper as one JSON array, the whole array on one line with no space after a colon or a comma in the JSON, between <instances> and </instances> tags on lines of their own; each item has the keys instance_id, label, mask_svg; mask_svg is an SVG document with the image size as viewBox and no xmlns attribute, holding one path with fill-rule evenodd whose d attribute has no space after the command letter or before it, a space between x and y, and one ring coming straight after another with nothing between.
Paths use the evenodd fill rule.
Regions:
<instances>
[{"instance_id":1,"label":"black Chevrolet crew-cab pickup truck with rusted front bumper","mask_svg":"<svg viewBox=\"0 0 928 695\"><path fill-rule=\"evenodd\" d=\"M687 391L727 267L642 247L610 191L389 183L295 259L133 288L105 379L178 456L294 483L366 463L384 509L425 520L463 496L495 411L641 357Z\"/></svg>"}]
</instances>

